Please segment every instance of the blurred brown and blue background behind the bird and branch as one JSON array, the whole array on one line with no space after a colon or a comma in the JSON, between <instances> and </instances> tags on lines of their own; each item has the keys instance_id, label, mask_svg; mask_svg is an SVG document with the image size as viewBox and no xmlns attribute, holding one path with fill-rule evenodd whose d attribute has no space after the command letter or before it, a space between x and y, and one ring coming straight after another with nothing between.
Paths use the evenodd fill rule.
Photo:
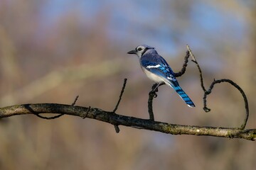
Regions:
<instances>
[{"instance_id":1,"label":"blurred brown and blue background behind the bird and branch","mask_svg":"<svg viewBox=\"0 0 256 170\"><path fill-rule=\"evenodd\" d=\"M247 94L256 128L256 1L0 1L0 106L73 103L149 118L152 81L128 55L137 45L156 47L180 71L186 45L213 79L232 79ZM188 108L168 86L154 100L158 121L240 127L241 94L217 84L203 111L198 69L188 62L179 84L196 104ZM220 137L166 135L64 115L0 120L0 169L256 169L256 145Z\"/></svg>"}]
</instances>

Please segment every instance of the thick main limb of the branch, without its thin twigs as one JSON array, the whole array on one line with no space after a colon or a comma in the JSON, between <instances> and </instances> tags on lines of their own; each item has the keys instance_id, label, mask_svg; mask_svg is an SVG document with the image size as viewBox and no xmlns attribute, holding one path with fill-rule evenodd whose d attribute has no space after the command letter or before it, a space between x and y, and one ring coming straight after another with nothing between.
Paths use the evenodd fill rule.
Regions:
<instances>
[{"instance_id":1,"label":"thick main limb of the branch, without its thin twigs","mask_svg":"<svg viewBox=\"0 0 256 170\"><path fill-rule=\"evenodd\" d=\"M0 118L13 115L28 115L39 113L61 113L65 115L75 115L81 118L92 118L112 125L124 125L127 127L154 130L172 135L206 135L227 138L242 138L245 140L256 140L256 129L238 128L217 128L201 127L193 125L175 125L161 123L141 118L133 118L125 115L117 115L113 112L103 111L100 108L87 108L80 106L70 106L55 103L38 103L8 106L0 108Z\"/></svg>"}]
</instances>

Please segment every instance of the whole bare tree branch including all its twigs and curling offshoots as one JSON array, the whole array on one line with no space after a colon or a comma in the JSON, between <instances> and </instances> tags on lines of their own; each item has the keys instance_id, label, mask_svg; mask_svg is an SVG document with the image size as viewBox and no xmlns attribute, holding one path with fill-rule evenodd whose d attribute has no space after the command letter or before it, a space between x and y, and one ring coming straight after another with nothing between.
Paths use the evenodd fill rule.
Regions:
<instances>
[{"instance_id":1,"label":"whole bare tree branch including all its twigs and curling offshoots","mask_svg":"<svg viewBox=\"0 0 256 170\"><path fill-rule=\"evenodd\" d=\"M187 46L188 47L188 46ZM152 90L149 92L149 101L148 101L148 109L149 109L149 120L141 119L141 118L133 118L125 115L118 115L115 112L119 106L119 103L122 99L122 94L124 93L124 89L127 83L127 79L124 79L124 84L122 86L121 93L119 95L119 100L113 111L103 111L100 108L86 108L81 106L75 106L76 101L78 100L78 96L75 98L75 101L71 105L63 105L56 103L38 103L38 104L24 104L24 105L16 105L16 106L7 106L5 108L0 108L0 119L10 117L13 115L24 115L24 114L34 114L39 118L44 119L53 119L59 118L61 115L75 115L80 116L81 118L92 118L95 120L100 120L105 123L110 123L114 125L114 129L116 132L119 132L118 125L124 125L137 129L145 129L145 130L154 130L158 132L169 133L172 135L208 135L215 137L228 137L228 138L242 138L245 140L256 140L256 129L245 129L245 125L247 123L247 119L249 117L249 107L247 103L247 98L245 96L244 91L235 84L230 79L220 79L214 80L210 85L209 89L206 90L203 85L203 76L201 72L201 68L199 67L198 62L196 62L196 58L193 56L190 48L188 47L188 51L186 52L186 56L184 59L183 68L180 72L176 73L176 77L180 77L182 74L186 72L186 66L188 63L188 57L192 57L192 61L196 63L200 77L201 77L201 87L204 91L203 103L204 110L210 111L209 108L206 107L206 96L209 95L213 89L213 86L218 83L228 82L229 84L235 86L236 89L240 91L242 97L245 101L245 120L242 123L240 128L219 128L219 127L201 127L195 125L176 125L170 123L161 123L154 121L154 113L153 113L153 99L156 98L158 91L158 87L162 84L154 84L152 86ZM39 114L42 113L56 113L53 117L43 117Z\"/></svg>"}]
</instances>

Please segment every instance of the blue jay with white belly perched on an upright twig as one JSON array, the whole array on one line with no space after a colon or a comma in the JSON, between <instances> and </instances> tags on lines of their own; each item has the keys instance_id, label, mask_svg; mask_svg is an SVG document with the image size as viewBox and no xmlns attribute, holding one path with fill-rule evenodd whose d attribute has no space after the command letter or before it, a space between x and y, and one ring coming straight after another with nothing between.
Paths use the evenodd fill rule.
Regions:
<instances>
[{"instance_id":1,"label":"blue jay with white belly perched on an upright twig","mask_svg":"<svg viewBox=\"0 0 256 170\"><path fill-rule=\"evenodd\" d=\"M131 50L127 53L139 57L142 71L149 77L149 79L156 82L156 88L161 84L167 84L177 92L178 96L180 96L189 107L196 107L193 101L191 101L191 98L189 98L183 89L181 89L181 86L179 86L175 74L169 64L156 52L154 47L150 47L149 45L139 45L135 50Z\"/></svg>"}]
</instances>

